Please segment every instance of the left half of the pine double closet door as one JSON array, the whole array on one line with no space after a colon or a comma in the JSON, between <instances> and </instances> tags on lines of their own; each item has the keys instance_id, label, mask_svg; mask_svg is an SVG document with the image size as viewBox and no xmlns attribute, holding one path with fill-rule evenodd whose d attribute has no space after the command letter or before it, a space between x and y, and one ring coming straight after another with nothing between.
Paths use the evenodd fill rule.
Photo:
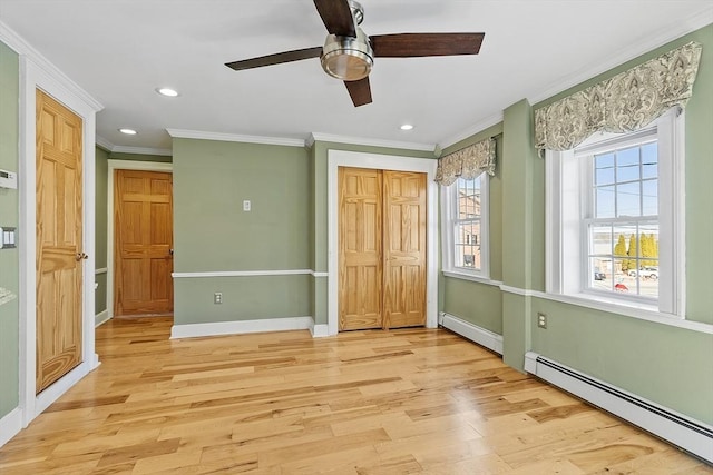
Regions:
<instances>
[{"instance_id":1,"label":"left half of the pine double closet door","mask_svg":"<svg viewBox=\"0 0 713 475\"><path fill-rule=\"evenodd\" d=\"M339 328L381 328L381 170L339 169Z\"/></svg>"}]
</instances>

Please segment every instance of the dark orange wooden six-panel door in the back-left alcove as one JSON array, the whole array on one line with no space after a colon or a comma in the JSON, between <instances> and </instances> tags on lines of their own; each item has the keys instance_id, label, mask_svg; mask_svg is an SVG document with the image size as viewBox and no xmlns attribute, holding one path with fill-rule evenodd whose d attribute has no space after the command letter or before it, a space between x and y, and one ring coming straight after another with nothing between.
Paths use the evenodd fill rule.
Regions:
<instances>
[{"instance_id":1,"label":"dark orange wooden six-panel door in the back-left alcove","mask_svg":"<svg viewBox=\"0 0 713 475\"><path fill-rule=\"evenodd\" d=\"M114 315L170 314L173 176L116 170Z\"/></svg>"}]
</instances>

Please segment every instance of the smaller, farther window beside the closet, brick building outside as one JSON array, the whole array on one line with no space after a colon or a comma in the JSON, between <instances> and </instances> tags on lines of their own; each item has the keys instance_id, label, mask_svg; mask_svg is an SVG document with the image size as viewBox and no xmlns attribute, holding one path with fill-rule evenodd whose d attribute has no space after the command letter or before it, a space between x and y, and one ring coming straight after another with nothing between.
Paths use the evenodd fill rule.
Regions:
<instances>
[{"instance_id":1,"label":"smaller, farther window beside the closet, brick building outside","mask_svg":"<svg viewBox=\"0 0 713 475\"><path fill-rule=\"evenodd\" d=\"M472 179L458 178L442 189L443 270L488 277L487 175L484 172Z\"/></svg>"}]
</instances>

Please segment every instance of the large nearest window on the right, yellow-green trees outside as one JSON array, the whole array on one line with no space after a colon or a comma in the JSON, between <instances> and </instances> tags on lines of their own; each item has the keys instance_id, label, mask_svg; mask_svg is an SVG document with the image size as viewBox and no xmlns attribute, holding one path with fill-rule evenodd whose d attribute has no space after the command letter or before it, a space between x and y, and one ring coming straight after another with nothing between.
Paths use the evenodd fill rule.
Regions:
<instances>
[{"instance_id":1,"label":"large nearest window on the right, yellow-green trees outside","mask_svg":"<svg viewBox=\"0 0 713 475\"><path fill-rule=\"evenodd\" d=\"M548 293L682 314L683 117L547 154Z\"/></svg>"}]
</instances>

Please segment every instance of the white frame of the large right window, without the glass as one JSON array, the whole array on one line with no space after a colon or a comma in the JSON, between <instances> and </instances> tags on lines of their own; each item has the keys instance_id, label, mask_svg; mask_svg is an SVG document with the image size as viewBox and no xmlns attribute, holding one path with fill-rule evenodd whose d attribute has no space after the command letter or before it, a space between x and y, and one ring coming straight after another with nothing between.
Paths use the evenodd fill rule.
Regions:
<instances>
[{"instance_id":1,"label":"white frame of the large right window, without the glass","mask_svg":"<svg viewBox=\"0 0 713 475\"><path fill-rule=\"evenodd\" d=\"M546 152L546 291L574 299L635 307L666 317L685 317L685 117L673 109L657 119L658 142L658 299L596 293L587 289L585 211L592 199L590 161L576 159L574 150ZM641 140L642 133L632 132ZM622 135L597 133L578 149ZM565 179L565 178L568 179ZM573 177L576 177L573 179ZM565 265L567 263L567 265ZM606 295L604 295L606 294Z\"/></svg>"}]
</instances>

